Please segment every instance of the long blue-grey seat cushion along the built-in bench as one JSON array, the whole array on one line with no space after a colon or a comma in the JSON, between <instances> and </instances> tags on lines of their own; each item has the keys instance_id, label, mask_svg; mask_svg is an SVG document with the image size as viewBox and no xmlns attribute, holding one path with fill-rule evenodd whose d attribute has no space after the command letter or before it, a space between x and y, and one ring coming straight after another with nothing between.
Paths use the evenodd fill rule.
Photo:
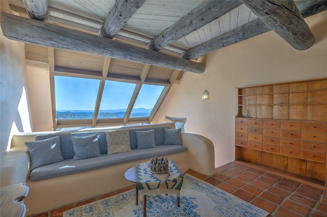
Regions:
<instances>
[{"instance_id":1,"label":"long blue-grey seat cushion along the built-in bench","mask_svg":"<svg viewBox=\"0 0 327 217\"><path fill-rule=\"evenodd\" d=\"M128 152L115 153L115 154L102 154L99 157L92 157L81 160L65 159L61 162L45 165L35 168L30 178L32 181L53 178L68 174L74 174L97 168L108 167L111 165L124 164L133 160L151 158L154 156L165 156L177 152L186 151L186 147L182 145L159 145L155 148L149 149L132 149Z\"/></svg>"}]
</instances>

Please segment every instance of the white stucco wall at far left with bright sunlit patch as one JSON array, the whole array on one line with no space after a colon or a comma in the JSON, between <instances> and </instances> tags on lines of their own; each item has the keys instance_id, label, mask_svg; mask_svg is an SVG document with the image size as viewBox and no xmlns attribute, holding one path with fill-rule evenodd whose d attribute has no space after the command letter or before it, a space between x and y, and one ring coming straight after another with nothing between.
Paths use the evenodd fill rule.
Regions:
<instances>
[{"instance_id":1,"label":"white stucco wall at far left with bright sunlit patch","mask_svg":"<svg viewBox=\"0 0 327 217\"><path fill-rule=\"evenodd\" d=\"M10 13L8 3L0 1L1 11ZM8 40L0 33L0 148L3 155L10 135L31 131L25 82L24 43Z\"/></svg>"}]
</instances>

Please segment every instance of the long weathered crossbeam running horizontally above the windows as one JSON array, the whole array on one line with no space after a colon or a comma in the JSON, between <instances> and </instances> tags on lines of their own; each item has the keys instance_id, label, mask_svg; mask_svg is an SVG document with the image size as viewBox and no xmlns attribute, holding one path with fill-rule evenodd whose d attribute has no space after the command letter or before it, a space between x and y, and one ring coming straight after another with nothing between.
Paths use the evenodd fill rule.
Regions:
<instances>
[{"instance_id":1,"label":"long weathered crossbeam running horizontally above the windows","mask_svg":"<svg viewBox=\"0 0 327 217\"><path fill-rule=\"evenodd\" d=\"M202 63L3 12L1 28L6 38L28 44L93 53L182 71L204 72Z\"/></svg>"}]
</instances>

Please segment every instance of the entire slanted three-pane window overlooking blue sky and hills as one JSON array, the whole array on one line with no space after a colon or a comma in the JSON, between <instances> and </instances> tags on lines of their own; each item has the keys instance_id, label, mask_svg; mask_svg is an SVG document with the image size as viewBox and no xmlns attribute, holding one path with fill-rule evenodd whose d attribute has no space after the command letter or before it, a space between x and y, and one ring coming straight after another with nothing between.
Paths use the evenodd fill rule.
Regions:
<instances>
[{"instance_id":1,"label":"entire slanted three-pane window overlooking blue sky and hills","mask_svg":"<svg viewBox=\"0 0 327 217\"><path fill-rule=\"evenodd\" d=\"M137 91L135 80L122 82L122 79L64 75L54 78L57 130L149 123L153 118L150 114L165 89L162 85L140 81L142 86ZM105 79L103 87L101 79Z\"/></svg>"}]
</instances>

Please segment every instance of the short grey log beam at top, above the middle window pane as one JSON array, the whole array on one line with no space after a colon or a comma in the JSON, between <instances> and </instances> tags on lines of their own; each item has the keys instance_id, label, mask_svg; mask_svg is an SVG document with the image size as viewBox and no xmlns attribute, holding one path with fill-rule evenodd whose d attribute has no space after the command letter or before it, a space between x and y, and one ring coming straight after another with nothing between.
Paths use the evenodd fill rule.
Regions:
<instances>
[{"instance_id":1,"label":"short grey log beam at top, above the middle window pane","mask_svg":"<svg viewBox=\"0 0 327 217\"><path fill-rule=\"evenodd\" d=\"M116 1L101 26L99 36L112 39L144 2L145 0Z\"/></svg>"}]
</instances>

